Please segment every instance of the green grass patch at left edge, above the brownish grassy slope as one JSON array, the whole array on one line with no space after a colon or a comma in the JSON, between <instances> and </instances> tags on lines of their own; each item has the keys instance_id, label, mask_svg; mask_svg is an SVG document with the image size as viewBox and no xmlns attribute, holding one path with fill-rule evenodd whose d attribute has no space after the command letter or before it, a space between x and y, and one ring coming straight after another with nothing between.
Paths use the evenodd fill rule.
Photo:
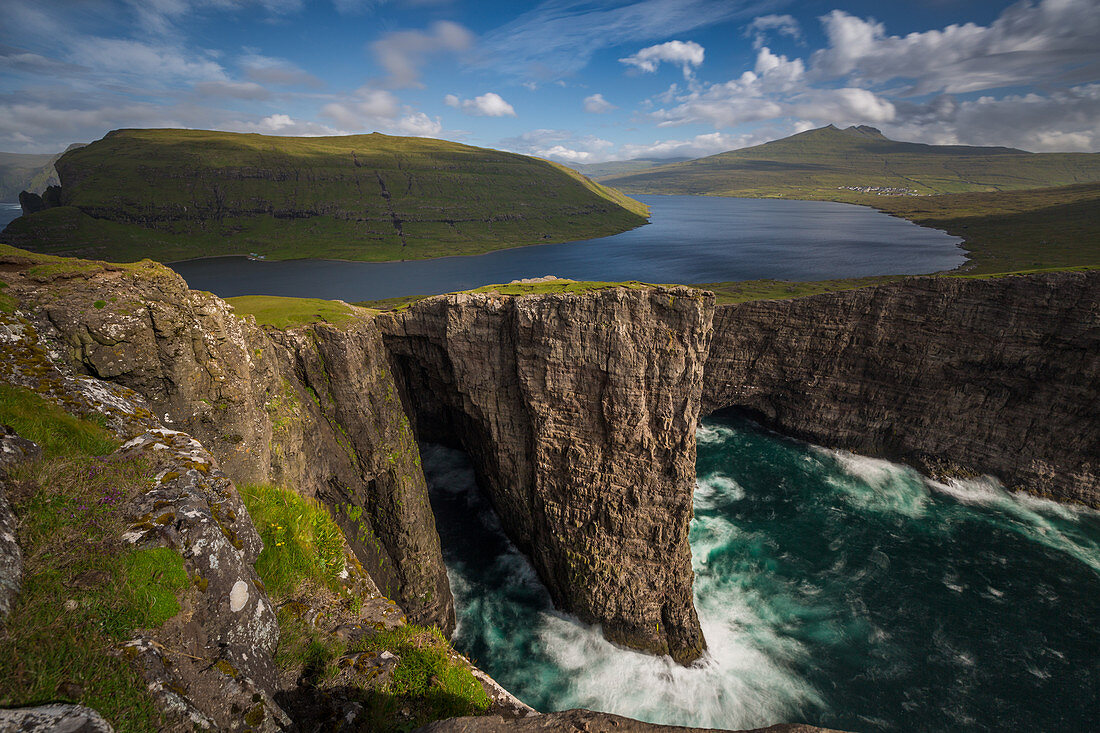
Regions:
<instances>
[{"instance_id":1,"label":"green grass patch at left edge, above the brownish grassy slope","mask_svg":"<svg viewBox=\"0 0 1100 733\"><path fill-rule=\"evenodd\" d=\"M0 423L42 447L46 458L102 456L119 442L101 425L69 415L30 390L0 383Z\"/></svg>"}]
</instances>

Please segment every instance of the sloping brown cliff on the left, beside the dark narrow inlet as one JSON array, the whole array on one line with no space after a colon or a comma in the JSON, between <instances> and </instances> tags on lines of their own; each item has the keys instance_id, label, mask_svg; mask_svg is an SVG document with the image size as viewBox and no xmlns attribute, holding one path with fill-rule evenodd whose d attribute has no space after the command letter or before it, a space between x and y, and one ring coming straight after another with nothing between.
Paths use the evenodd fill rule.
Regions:
<instances>
[{"instance_id":1,"label":"sloping brown cliff on the left, beside the dark narrow inlet","mask_svg":"<svg viewBox=\"0 0 1100 733\"><path fill-rule=\"evenodd\" d=\"M370 318L278 332L160 265L42 273L4 260L61 358L141 394L238 483L317 496L411 621L453 628L419 451Z\"/></svg>"}]
</instances>

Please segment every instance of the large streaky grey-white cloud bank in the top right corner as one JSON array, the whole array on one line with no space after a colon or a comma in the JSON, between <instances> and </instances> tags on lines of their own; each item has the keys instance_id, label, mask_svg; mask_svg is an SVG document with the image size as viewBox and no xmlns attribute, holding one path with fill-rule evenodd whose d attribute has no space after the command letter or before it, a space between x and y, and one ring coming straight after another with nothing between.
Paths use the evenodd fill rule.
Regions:
<instances>
[{"instance_id":1,"label":"large streaky grey-white cloud bank in the top right corner","mask_svg":"<svg viewBox=\"0 0 1100 733\"><path fill-rule=\"evenodd\" d=\"M904 36L843 10L821 21L828 46L811 57L815 78L850 77L858 86L905 79L910 94L924 95L1100 76L1096 0L1018 2L990 25L953 24Z\"/></svg>"}]
</instances>

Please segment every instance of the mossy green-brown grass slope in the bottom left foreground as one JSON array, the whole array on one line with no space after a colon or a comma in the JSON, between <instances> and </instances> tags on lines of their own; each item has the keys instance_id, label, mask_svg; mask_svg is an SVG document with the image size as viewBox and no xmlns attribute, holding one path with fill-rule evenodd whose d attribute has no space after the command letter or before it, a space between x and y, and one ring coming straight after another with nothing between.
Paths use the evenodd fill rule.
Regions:
<instances>
[{"instance_id":1,"label":"mossy green-brown grass slope in the bottom left foreground","mask_svg":"<svg viewBox=\"0 0 1100 733\"><path fill-rule=\"evenodd\" d=\"M0 385L6 422L42 407L18 390L12 398L11 390ZM98 426L55 409L23 425L51 457L10 475L24 577L0 623L0 707L75 702L117 731L157 730L162 721L141 675L119 654L134 630L178 613L188 584L178 553L133 550L120 540L123 506L147 491L154 471L141 459L97 458L109 445Z\"/></svg>"}]
</instances>

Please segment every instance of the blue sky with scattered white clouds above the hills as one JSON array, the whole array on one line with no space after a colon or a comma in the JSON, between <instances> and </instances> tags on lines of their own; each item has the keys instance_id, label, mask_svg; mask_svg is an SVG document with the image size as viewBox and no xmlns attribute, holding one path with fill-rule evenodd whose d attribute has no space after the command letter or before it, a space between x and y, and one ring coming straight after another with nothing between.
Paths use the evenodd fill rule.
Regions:
<instances>
[{"instance_id":1,"label":"blue sky with scattered white clouds above the hills","mask_svg":"<svg viewBox=\"0 0 1100 733\"><path fill-rule=\"evenodd\" d=\"M7 152L377 131L576 164L829 123L1100 151L1100 0L0 0Z\"/></svg>"}]
</instances>

